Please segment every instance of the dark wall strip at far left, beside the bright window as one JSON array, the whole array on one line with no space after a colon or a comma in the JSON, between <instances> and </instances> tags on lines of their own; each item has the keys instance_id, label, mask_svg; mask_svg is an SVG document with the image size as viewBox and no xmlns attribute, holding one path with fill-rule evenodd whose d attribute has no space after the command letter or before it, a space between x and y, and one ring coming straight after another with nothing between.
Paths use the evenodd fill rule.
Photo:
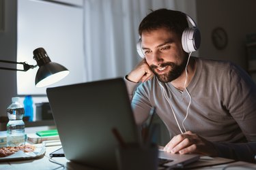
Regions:
<instances>
[{"instance_id":1,"label":"dark wall strip at far left, beside the bright window","mask_svg":"<svg viewBox=\"0 0 256 170\"><path fill-rule=\"evenodd\" d=\"M1 10L1 13L4 15L4 30L0 31L0 59L16 61L17 2L16 0L3 2L4 10ZM4 66L0 63L0 67ZM6 108L12 102L12 97L17 94L16 71L0 70L0 78L0 116L5 116Z\"/></svg>"}]
</instances>

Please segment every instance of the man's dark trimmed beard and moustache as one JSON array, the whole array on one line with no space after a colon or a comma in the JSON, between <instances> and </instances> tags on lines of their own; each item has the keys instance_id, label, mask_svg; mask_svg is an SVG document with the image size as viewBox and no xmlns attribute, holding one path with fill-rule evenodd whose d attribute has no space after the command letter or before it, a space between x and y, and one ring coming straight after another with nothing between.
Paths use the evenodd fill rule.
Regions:
<instances>
[{"instance_id":1,"label":"man's dark trimmed beard and moustache","mask_svg":"<svg viewBox=\"0 0 256 170\"><path fill-rule=\"evenodd\" d=\"M186 68L187 62L188 62L188 58L185 58L184 61L180 65L176 65L173 62L167 62L167 63L160 64L159 67L167 67L167 66L171 67L171 70L165 74L156 73L156 71L155 71L155 69L157 68L156 65L150 65L150 68L160 82L167 83L167 82L171 82L171 81L175 80L176 78L180 77L180 75L182 75L182 72Z\"/></svg>"}]
</instances>

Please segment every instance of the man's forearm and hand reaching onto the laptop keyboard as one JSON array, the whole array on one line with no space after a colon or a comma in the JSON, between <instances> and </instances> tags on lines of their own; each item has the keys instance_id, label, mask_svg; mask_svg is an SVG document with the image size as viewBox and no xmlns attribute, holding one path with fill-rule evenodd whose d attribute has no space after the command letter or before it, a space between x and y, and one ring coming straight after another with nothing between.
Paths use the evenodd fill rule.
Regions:
<instances>
[{"instance_id":1,"label":"man's forearm and hand reaching onto the laptop keyboard","mask_svg":"<svg viewBox=\"0 0 256 170\"><path fill-rule=\"evenodd\" d=\"M219 156L233 160L255 163L256 142L248 143L218 143L210 142L190 131L177 135L165 146L166 152L173 154L203 154Z\"/></svg>"}]
</instances>

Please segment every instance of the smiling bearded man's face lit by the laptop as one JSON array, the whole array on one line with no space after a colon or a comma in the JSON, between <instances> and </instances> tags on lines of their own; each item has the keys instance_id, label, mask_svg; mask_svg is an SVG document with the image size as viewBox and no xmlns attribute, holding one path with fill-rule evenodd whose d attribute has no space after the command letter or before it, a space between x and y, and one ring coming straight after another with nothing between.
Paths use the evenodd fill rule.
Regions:
<instances>
[{"instance_id":1,"label":"smiling bearded man's face lit by the laptop","mask_svg":"<svg viewBox=\"0 0 256 170\"><path fill-rule=\"evenodd\" d=\"M188 57L182 50L181 39L168 29L144 31L141 45L147 64L161 82L171 82L180 77Z\"/></svg>"}]
</instances>

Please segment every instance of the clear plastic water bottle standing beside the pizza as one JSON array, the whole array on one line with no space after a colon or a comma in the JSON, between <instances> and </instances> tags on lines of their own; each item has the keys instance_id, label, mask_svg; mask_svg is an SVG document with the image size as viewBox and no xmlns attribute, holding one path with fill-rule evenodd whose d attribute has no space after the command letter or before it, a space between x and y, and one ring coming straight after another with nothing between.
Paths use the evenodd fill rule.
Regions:
<instances>
[{"instance_id":1,"label":"clear plastic water bottle standing beside the pizza","mask_svg":"<svg viewBox=\"0 0 256 170\"><path fill-rule=\"evenodd\" d=\"M24 108L18 100L19 97L12 97L12 104L7 108L7 146L25 145Z\"/></svg>"}]
</instances>

